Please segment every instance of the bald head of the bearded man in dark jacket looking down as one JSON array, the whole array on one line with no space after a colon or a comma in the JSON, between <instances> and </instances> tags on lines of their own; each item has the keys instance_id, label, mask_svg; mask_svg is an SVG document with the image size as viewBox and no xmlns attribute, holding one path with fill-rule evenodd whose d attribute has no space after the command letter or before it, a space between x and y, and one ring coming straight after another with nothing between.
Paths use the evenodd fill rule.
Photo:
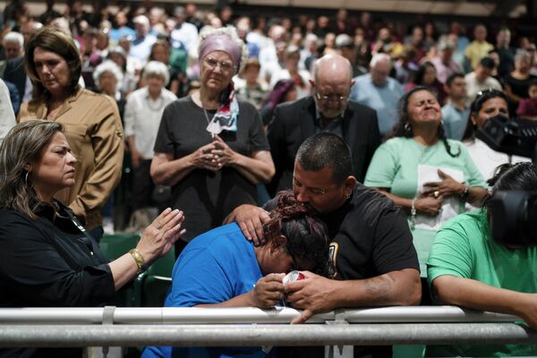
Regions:
<instances>
[{"instance_id":1,"label":"bald head of the bearded man in dark jacket looking down","mask_svg":"<svg viewBox=\"0 0 537 358\"><path fill-rule=\"evenodd\" d=\"M326 119L345 112L351 87L354 84L351 63L342 55L329 54L315 62L315 103Z\"/></svg>"}]
</instances>

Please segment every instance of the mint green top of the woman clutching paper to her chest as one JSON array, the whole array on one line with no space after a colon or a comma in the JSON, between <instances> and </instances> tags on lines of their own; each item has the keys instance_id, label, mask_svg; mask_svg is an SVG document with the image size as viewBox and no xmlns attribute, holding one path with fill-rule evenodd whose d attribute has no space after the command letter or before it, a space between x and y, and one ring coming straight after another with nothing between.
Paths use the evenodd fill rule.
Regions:
<instances>
[{"instance_id":1,"label":"mint green top of the woman clutching paper to her chest","mask_svg":"<svg viewBox=\"0 0 537 358\"><path fill-rule=\"evenodd\" d=\"M470 186L487 188L479 169L473 164L465 145L460 141L447 140L452 153L447 153L443 141L426 147L412 138L392 138L375 151L371 164L365 176L364 184L378 188L389 188L396 196L412 199L417 197L418 165L438 166L440 168L456 169L463 172L465 183ZM464 206L459 205L459 212ZM408 216L410 222L410 216ZM411 226L412 227L412 226ZM436 230L413 228L413 243L418 253L422 277L426 277L425 262L429 256L430 245L434 241Z\"/></svg>"}]
</instances>

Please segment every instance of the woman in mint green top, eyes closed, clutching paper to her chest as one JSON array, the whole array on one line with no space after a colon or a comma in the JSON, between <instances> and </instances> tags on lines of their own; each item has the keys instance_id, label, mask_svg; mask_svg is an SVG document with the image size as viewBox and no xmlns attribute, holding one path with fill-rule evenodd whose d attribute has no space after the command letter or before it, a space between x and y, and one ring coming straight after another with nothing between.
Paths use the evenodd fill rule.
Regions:
<instances>
[{"instance_id":1,"label":"woman in mint green top, eyes closed, clutching paper to her chest","mask_svg":"<svg viewBox=\"0 0 537 358\"><path fill-rule=\"evenodd\" d=\"M399 123L388 134L391 138L371 159L365 185L408 212L425 277L425 261L436 230L464 211L465 202L481 206L487 186L463 143L446 138L434 93L413 88L401 98L400 113Z\"/></svg>"}]
</instances>

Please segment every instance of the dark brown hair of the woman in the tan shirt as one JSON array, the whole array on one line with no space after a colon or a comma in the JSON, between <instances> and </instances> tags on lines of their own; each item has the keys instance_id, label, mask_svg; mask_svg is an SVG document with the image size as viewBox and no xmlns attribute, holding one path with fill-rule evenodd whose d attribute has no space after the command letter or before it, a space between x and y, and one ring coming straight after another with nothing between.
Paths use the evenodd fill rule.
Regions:
<instances>
[{"instance_id":1,"label":"dark brown hair of the woman in the tan shirt","mask_svg":"<svg viewBox=\"0 0 537 358\"><path fill-rule=\"evenodd\" d=\"M80 81L82 71L79 50L74 45L72 38L69 38L59 30L45 27L34 33L24 48L24 66L33 85L33 98L31 102L41 102L47 100L49 96L48 91L39 79L36 65L34 64L34 51L36 47L54 52L56 55L60 55L64 58L71 71L71 78L67 85L67 91L74 93L78 89L78 82Z\"/></svg>"}]
</instances>

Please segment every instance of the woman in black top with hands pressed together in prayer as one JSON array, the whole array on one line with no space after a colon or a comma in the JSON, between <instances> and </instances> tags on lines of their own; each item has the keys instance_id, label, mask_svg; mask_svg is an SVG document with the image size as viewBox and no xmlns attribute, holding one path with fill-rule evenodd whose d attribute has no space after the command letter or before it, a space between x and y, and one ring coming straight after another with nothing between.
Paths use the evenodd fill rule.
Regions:
<instances>
[{"instance_id":1,"label":"woman in black top with hands pressed together in prayer","mask_svg":"<svg viewBox=\"0 0 537 358\"><path fill-rule=\"evenodd\" d=\"M136 248L107 262L72 210L54 199L75 177L61 131L59 123L30 120L0 146L0 307L104 305L183 234L183 213L166 209ZM64 354L0 349L0 356Z\"/></svg>"}]
</instances>

